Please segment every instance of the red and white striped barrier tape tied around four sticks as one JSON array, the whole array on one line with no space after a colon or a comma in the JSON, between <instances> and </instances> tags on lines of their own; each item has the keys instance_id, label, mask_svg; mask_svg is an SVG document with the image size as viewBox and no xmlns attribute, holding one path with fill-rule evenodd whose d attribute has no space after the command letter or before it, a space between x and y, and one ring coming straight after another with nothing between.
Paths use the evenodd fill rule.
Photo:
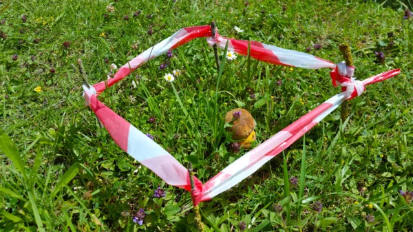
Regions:
<instances>
[{"instance_id":1,"label":"red and white striped barrier tape tied around four sticks","mask_svg":"<svg viewBox=\"0 0 413 232\"><path fill-rule=\"evenodd\" d=\"M226 41L229 41L228 50L233 50L242 55L248 53L248 41L226 39L219 36L218 32L215 34L215 37L211 37L211 26L209 25L183 28L164 41L136 56L135 59L129 61L129 63L123 65L123 67L120 67L114 78L97 83L90 88L83 85L85 102L94 111L96 116L98 116L100 121L102 121L115 143L126 151L127 154L142 163L142 165L151 169L168 184L187 189L188 191L191 191L189 171L183 167L178 160L173 158L171 154L165 151L165 149L151 140L151 138L148 138L136 129L136 127L113 112L112 109L109 109L109 107L101 103L97 96L105 90L106 86L110 87L122 80L140 65L149 61L149 59L165 54L169 50L178 48L178 46L200 37L209 37L207 39L208 43L210 45L216 44L220 48L225 48ZM241 158L235 160L235 162L220 171L220 173L205 184L202 184L198 178L194 178L196 189L192 191L192 196L195 205L217 196L250 176L268 162L268 160L277 156L277 154L317 125L319 121L339 107L343 101L359 96L365 90L366 85L384 81L400 73L400 70L391 70L363 81L357 81L355 78L352 78L354 67L346 67L345 63L335 65L330 61L304 52L277 48L273 45L266 45L255 41L251 41L250 45L251 57L260 61L308 69L318 69L321 67L332 68L333 71L330 76L333 85L337 86L337 83L339 83L342 87L342 92L328 99L328 101L282 129L282 131L279 131L273 137L255 147L255 149L252 149Z\"/></svg>"}]
</instances>

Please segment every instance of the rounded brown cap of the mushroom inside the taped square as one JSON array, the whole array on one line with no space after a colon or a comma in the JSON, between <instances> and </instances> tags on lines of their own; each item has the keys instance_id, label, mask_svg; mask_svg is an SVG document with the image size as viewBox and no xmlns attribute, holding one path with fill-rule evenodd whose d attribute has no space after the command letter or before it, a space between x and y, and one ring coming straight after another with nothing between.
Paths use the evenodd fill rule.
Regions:
<instances>
[{"instance_id":1,"label":"rounded brown cap of the mushroom inside the taped square","mask_svg":"<svg viewBox=\"0 0 413 232\"><path fill-rule=\"evenodd\" d=\"M241 112L240 118L233 121L233 113ZM255 120L253 116L246 109L233 109L225 115L225 123L231 123L233 125L231 128L227 127L231 132L233 132L232 138L234 140L246 139L254 130Z\"/></svg>"}]
</instances>

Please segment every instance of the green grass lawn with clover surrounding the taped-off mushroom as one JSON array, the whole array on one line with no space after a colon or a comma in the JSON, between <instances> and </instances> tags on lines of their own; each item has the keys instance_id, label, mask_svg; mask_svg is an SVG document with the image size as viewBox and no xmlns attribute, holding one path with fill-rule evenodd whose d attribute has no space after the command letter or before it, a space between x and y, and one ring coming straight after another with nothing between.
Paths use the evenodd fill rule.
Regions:
<instances>
[{"instance_id":1,"label":"green grass lawn with clover surrounding the taped-off mushroom","mask_svg":"<svg viewBox=\"0 0 413 232\"><path fill-rule=\"evenodd\" d=\"M85 107L81 77L70 63L81 58L90 83L97 83L111 63L120 67L180 28L213 20L222 36L312 48L308 53L333 62L342 60L338 45L349 43L359 79L390 67L402 71L350 101L348 120L333 112L284 155L200 204L206 231L239 231L240 222L246 231L413 230L412 203L399 194L413 191L413 24L402 19L413 7L407 1L125 0L113 1L109 13L111 2L0 2L7 36L0 38L0 231L196 231L189 193L116 146ZM235 25L244 32L237 34ZM379 51L384 63L374 62ZM218 73L204 39L173 54L166 70L158 69L166 55L153 59L100 100L184 165L192 162L203 182L246 152L229 150L233 140L223 121L229 110L242 106L253 114L258 144L339 92L327 69L290 70L246 56L222 62ZM172 87L163 76L174 69L183 74ZM136 75L142 78L133 88ZM150 116L156 123L148 123ZM153 198L158 186L166 198ZM142 226L132 222L140 208L148 213Z\"/></svg>"}]
</instances>

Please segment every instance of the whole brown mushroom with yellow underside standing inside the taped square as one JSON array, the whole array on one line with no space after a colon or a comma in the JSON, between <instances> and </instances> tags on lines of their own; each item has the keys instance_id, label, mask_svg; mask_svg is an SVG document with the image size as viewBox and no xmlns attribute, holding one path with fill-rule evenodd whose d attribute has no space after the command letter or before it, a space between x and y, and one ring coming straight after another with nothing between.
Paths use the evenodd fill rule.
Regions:
<instances>
[{"instance_id":1,"label":"whole brown mushroom with yellow underside standing inside the taped square","mask_svg":"<svg viewBox=\"0 0 413 232\"><path fill-rule=\"evenodd\" d=\"M243 148L250 148L255 137L255 120L246 109L233 109L225 115L225 123L232 123L232 127L226 127L233 133L233 140L242 140L240 143Z\"/></svg>"}]
</instances>

